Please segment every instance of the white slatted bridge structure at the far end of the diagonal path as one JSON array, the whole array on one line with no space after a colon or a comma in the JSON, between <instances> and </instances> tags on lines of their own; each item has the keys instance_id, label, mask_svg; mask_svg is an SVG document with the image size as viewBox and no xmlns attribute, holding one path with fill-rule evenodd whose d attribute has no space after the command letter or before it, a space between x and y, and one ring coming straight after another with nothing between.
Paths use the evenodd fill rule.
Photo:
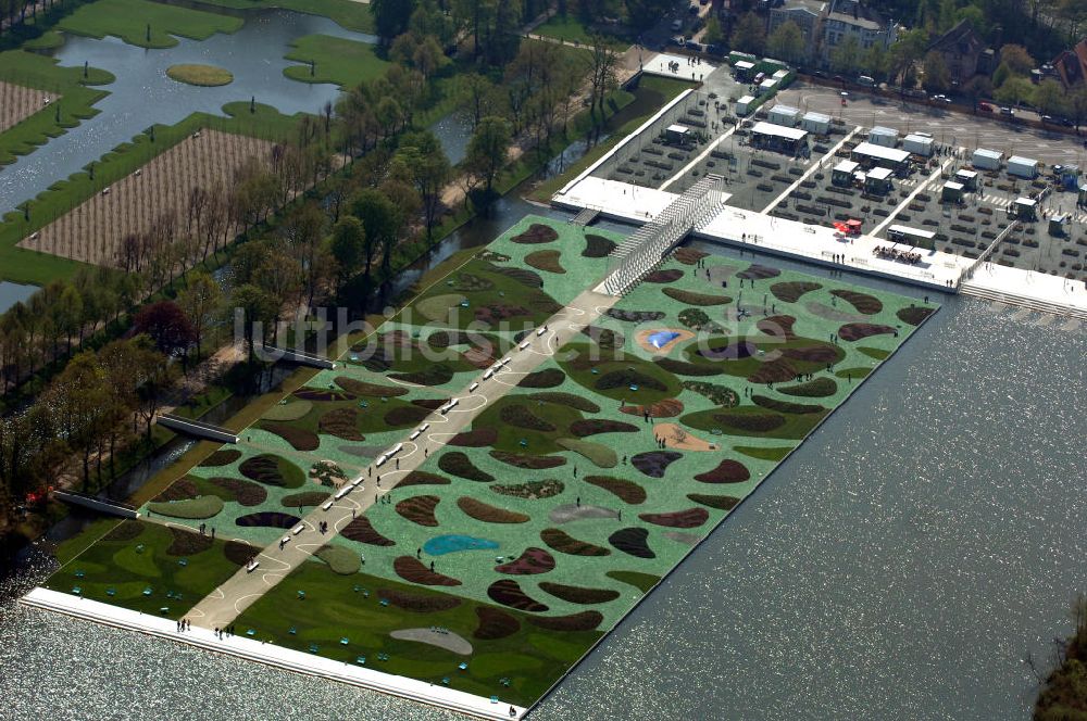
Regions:
<instances>
[{"instance_id":1,"label":"white slatted bridge structure at the far end of the diagonal path","mask_svg":"<svg viewBox=\"0 0 1087 721\"><path fill-rule=\"evenodd\" d=\"M708 175L638 228L611 252L612 269L596 292L608 295L629 292L687 233L701 229L721 212L723 186L722 176Z\"/></svg>"}]
</instances>

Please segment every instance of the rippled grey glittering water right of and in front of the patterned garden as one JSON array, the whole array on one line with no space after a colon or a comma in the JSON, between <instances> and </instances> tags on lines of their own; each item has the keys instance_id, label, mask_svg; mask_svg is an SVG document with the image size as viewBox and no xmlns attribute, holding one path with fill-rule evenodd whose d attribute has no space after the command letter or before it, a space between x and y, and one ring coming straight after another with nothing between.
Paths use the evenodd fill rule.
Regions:
<instances>
[{"instance_id":1,"label":"rippled grey glittering water right of and in front of the patterned garden","mask_svg":"<svg viewBox=\"0 0 1087 721\"><path fill-rule=\"evenodd\" d=\"M947 301L534 718L1029 718L1087 590L1087 336L1035 322ZM0 614L0 717L454 718Z\"/></svg>"}]
</instances>

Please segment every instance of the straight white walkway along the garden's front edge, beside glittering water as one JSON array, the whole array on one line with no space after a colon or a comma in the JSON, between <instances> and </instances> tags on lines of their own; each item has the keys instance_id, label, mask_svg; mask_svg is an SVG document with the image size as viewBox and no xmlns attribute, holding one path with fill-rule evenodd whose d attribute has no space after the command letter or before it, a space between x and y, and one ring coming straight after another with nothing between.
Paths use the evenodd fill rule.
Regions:
<instances>
[{"instance_id":1,"label":"straight white walkway along the garden's front edge, beside glittering water","mask_svg":"<svg viewBox=\"0 0 1087 721\"><path fill-rule=\"evenodd\" d=\"M339 681L340 683L371 691L402 696L414 701L453 709L480 719L493 719L496 721L520 719L527 710L518 706L510 706L509 704L495 701L482 696L466 694L462 691L447 688L446 686L436 686L425 681L382 673L380 671L362 666L342 663L314 654L290 650L246 636L216 638L213 631L198 627L192 627L191 631L178 633L176 622L170 619L148 616L126 608L118 608L97 600L89 600L47 589L34 589L30 593L23 596L21 600L27 606L43 608L118 629L138 631L159 638L167 638L207 650L267 663L268 666L287 671L295 671L307 675Z\"/></svg>"}]
</instances>

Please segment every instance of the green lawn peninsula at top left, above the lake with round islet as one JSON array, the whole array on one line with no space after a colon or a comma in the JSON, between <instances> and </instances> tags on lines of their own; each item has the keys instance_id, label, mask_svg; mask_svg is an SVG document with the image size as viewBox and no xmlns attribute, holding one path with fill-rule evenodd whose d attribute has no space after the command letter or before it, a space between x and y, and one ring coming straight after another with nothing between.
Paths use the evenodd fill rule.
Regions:
<instances>
[{"instance_id":1,"label":"green lawn peninsula at top left, above the lake with round islet","mask_svg":"<svg viewBox=\"0 0 1087 721\"><path fill-rule=\"evenodd\" d=\"M58 27L92 38L112 35L141 48L172 48L177 45L174 35L204 40L215 33L236 33L242 24L240 17L149 0L98 0L76 10Z\"/></svg>"}]
</instances>

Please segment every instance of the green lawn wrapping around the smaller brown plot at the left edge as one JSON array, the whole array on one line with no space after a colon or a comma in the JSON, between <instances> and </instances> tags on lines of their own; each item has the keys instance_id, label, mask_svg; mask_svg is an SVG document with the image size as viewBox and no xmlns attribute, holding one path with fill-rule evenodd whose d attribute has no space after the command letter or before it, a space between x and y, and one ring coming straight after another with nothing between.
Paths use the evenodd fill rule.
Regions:
<instances>
[{"instance_id":1,"label":"green lawn wrapping around the smaller brown plot at the left edge","mask_svg":"<svg viewBox=\"0 0 1087 721\"><path fill-rule=\"evenodd\" d=\"M97 115L95 103L109 92L92 86L109 85L116 79L93 67L85 78L82 67L61 67L57 62L23 50L0 52L0 80L60 96L59 101L0 132L0 166L14 163L16 156L34 152L50 138Z\"/></svg>"}]
</instances>

